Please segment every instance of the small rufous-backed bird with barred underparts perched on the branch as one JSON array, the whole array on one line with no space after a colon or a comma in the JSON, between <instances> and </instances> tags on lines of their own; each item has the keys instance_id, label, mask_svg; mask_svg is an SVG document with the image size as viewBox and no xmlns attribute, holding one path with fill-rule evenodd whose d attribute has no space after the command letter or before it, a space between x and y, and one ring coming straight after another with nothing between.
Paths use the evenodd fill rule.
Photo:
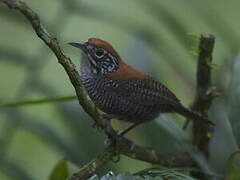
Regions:
<instances>
[{"instance_id":1,"label":"small rufous-backed bird with barred underparts perched on the branch","mask_svg":"<svg viewBox=\"0 0 240 180\"><path fill-rule=\"evenodd\" d=\"M82 84L96 107L104 113L102 117L106 123L114 118L131 123L118 135L124 135L162 113L178 113L187 119L214 126L207 117L184 107L160 81L128 65L107 41L89 38L86 42L68 44L82 52Z\"/></svg>"}]
</instances>

